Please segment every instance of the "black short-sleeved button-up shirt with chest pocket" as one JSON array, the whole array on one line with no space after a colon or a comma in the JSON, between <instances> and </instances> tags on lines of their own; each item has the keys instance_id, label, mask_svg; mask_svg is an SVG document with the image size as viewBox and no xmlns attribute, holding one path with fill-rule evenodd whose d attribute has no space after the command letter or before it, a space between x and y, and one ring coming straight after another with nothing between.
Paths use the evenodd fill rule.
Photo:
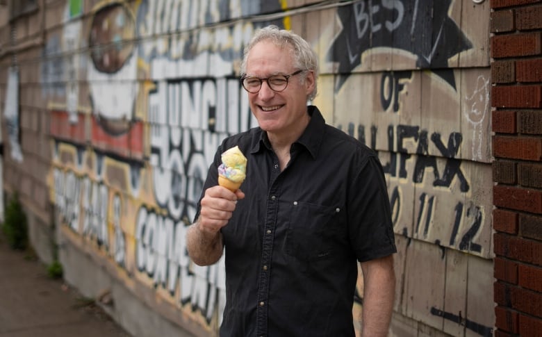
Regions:
<instances>
[{"instance_id":1,"label":"black short-sleeved button-up shirt with chest pocket","mask_svg":"<svg viewBox=\"0 0 542 337\"><path fill-rule=\"evenodd\" d=\"M217 185L223 151L238 145L248 160L246 197L222 228L220 336L354 336L356 261L396 252L376 154L315 106L308 113L283 172L259 128L224 140L208 171L204 190Z\"/></svg>"}]
</instances>

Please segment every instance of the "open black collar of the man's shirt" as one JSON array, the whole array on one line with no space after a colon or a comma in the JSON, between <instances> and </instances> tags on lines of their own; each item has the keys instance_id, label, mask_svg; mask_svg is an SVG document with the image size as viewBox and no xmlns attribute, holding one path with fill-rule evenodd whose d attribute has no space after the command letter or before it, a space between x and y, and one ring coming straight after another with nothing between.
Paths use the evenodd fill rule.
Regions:
<instances>
[{"instance_id":1,"label":"open black collar of the man's shirt","mask_svg":"<svg viewBox=\"0 0 542 337\"><path fill-rule=\"evenodd\" d=\"M325 120L316 106L307 106L307 113L311 116L311 120L301 137L299 137L294 144L302 145L309 151L313 158L316 158L324 137ZM251 153L256 154L261 151L263 147L272 149L268 134L258 127L258 132L256 132L252 138Z\"/></svg>"}]
</instances>

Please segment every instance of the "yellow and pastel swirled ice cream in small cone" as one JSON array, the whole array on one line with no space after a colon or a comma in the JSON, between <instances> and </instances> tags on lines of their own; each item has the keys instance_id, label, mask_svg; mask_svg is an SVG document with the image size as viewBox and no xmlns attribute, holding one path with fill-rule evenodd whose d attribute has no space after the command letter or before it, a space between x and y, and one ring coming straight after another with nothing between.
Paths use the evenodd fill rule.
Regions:
<instances>
[{"instance_id":1,"label":"yellow and pastel swirled ice cream in small cone","mask_svg":"<svg viewBox=\"0 0 542 337\"><path fill-rule=\"evenodd\" d=\"M231 147L222 154L222 164L218 167L218 184L235 192L245 181L247 158L238 146Z\"/></svg>"}]
</instances>

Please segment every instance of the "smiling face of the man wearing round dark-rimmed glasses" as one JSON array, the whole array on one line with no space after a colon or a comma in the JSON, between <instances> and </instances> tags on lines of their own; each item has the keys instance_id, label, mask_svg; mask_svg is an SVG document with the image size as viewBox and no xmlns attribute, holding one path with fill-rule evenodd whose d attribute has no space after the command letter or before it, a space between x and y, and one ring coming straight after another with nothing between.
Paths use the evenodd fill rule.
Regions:
<instances>
[{"instance_id":1,"label":"smiling face of the man wearing round dark-rimmed glasses","mask_svg":"<svg viewBox=\"0 0 542 337\"><path fill-rule=\"evenodd\" d=\"M249 52L247 58L247 76L256 76L260 79L282 74L289 75L299 69L293 67L290 47L281 49L270 41L258 42ZM306 99L314 88L312 72L297 74L288 79L288 86L284 91L274 92L263 81L259 92L248 93L250 108L258 124L264 131L276 135L299 133L306 126Z\"/></svg>"}]
</instances>

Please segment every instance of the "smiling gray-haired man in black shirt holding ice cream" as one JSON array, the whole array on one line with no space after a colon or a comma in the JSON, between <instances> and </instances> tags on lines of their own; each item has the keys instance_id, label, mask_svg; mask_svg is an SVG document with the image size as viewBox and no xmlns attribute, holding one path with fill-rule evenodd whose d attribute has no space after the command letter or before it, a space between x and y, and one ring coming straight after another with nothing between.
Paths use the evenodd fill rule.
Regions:
<instances>
[{"instance_id":1,"label":"smiling gray-haired man in black shirt holding ice cream","mask_svg":"<svg viewBox=\"0 0 542 337\"><path fill-rule=\"evenodd\" d=\"M241 73L259 127L222 142L187 233L198 265L215 263L225 247L220 336L354 336L356 260L362 336L386 336L396 249L377 156L306 105L318 59L298 35L261 29ZM231 192L217 186L217 167L236 145L247 179Z\"/></svg>"}]
</instances>

